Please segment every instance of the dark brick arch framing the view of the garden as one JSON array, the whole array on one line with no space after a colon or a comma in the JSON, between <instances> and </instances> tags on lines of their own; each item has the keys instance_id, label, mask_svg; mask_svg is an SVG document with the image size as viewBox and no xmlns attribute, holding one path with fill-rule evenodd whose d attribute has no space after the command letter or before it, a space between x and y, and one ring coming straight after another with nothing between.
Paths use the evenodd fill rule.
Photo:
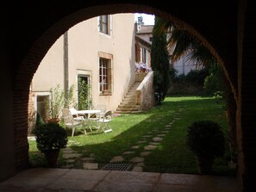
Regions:
<instances>
[{"instance_id":1,"label":"dark brick arch framing the view of the garden","mask_svg":"<svg viewBox=\"0 0 256 192\"><path fill-rule=\"evenodd\" d=\"M67 5L66 5L67 6ZM180 5L176 5L178 8ZM47 9L47 8L46 8ZM24 51L21 55L21 65L19 65L16 71L16 77L14 79L14 127L15 127L15 146L16 146L16 170L22 170L28 167L28 140L27 140L27 130L28 130L28 93L29 84L33 78L34 72L41 63L41 59L46 55L47 50L53 45L54 41L59 38L61 34L64 34L68 28L78 22L82 22L91 17L101 15L101 14L117 14L117 13L133 13L133 12L144 12L148 14L158 15L166 19L170 19L177 22L179 25L187 28L192 34L197 36L199 40L203 41L203 44L209 48L209 51L218 59L220 65L225 71L228 77L229 83L231 84L234 96L236 96L236 82L234 79L234 71L229 71L228 65L232 63L227 62L230 58L223 58L217 50L222 48L222 45L213 44L214 40L218 37L213 36L211 31L203 31L202 23L195 23L190 21L189 16L181 15L178 17L178 10L173 9L174 14L172 15L172 10L166 12L165 9L159 9L151 4L145 2L144 5L141 4L97 4L96 6L88 7L86 3L81 3L81 8L76 7L72 10L64 9L61 15L56 15L53 17L51 23L45 28L40 28L37 34L31 38L28 42L28 49ZM59 18L59 17L60 18ZM57 18L58 17L58 18ZM187 20L186 20L187 19ZM184 22L183 22L184 21ZM206 28L208 29L208 28ZM205 29L205 30L206 30ZM210 39L211 37L212 39ZM224 47L226 48L226 47ZM221 50L222 51L222 50Z\"/></svg>"}]
</instances>

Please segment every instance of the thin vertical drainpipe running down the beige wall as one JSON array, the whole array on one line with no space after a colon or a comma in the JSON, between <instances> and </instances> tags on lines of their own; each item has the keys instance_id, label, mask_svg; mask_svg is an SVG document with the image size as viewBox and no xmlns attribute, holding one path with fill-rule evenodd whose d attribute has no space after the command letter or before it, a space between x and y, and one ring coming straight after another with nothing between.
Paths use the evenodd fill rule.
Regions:
<instances>
[{"instance_id":1,"label":"thin vertical drainpipe running down the beige wall","mask_svg":"<svg viewBox=\"0 0 256 192\"><path fill-rule=\"evenodd\" d=\"M66 100L68 99L68 36L67 32L64 34L64 93ZM66 108L69 106L65 106Z\"/></svg>"}]
</instances>

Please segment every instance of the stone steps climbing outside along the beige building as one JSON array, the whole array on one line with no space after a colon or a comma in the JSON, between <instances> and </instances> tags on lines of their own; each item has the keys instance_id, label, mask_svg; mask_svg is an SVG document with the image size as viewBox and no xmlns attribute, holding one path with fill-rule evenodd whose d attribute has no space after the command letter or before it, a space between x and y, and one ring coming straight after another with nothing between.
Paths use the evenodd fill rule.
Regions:
<instances>
[{"instance_id":1,"label":"stone steps climbing outside along the beige building","mask_svg":"<svg viewBox=\"0 0 256 192\"><path fill-rule=\"evenodd\" d=\"M140 105L137 105L137 94L136 89L140 85L141 81L137 81L128 90L128 93L122 99L122 102L118 105L116 109L117 114L130 114L130 113L138 113L140 112Z\"/></svg>"}]
</instances>

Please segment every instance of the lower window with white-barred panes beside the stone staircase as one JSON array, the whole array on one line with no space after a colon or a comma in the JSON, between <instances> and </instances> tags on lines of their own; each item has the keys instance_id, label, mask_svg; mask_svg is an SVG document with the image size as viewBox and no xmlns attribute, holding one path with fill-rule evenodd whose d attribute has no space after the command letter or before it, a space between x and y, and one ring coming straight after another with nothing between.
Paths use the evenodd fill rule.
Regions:
<instances>
[{"instance_id":1,"label":"lower window with white-barred panes beside the stone staircase","mask_svg":"<svg viewBox=\"0 0 256 192\"><path fill-rule=\"evenodd\" d=\"M99 59L99 90L101 95L112 93L111 88L111 60Z\"/></svg>"}]
</instances>

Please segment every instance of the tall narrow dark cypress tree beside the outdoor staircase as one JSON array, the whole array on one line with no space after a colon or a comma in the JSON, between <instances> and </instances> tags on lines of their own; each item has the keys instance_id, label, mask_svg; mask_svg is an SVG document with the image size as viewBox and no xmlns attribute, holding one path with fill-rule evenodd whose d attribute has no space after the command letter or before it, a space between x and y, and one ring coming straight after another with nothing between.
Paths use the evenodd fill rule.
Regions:
<instances>
[{"instance_id":1,"label":"tall narrow dark cypress tree beside the outdoor staircase","mask_svg":"<svg viewBox=\"0 0 256 192\"><path fill-rule=\"evenodd\" d=\"M155 17L155 23L159 21L159 17ZM153 40L151 46L151 67L154 71L154 86L156 89L157 103L165 99L169 82L169 59L166 48L166 34L156 33L153 28Z\"/></svg>"}]
</instances>

